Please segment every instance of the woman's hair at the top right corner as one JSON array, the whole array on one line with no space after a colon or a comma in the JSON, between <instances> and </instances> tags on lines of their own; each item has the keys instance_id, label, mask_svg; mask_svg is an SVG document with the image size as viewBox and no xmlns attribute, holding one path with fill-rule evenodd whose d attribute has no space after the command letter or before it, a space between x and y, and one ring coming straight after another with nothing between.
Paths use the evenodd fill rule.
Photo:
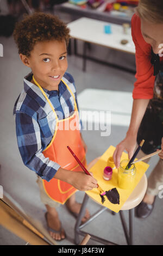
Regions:
<instances>
[{"instance_id":1,"label":"woman's hair at the top right corner","mask_svg":"<svg viewBox=\"0 0 163 256\"><path fill-rule=\"evenodd\" d=\"M163 0L140 0L136 12L151 23L163 23Z\"/></svg>"}]
</instances>

